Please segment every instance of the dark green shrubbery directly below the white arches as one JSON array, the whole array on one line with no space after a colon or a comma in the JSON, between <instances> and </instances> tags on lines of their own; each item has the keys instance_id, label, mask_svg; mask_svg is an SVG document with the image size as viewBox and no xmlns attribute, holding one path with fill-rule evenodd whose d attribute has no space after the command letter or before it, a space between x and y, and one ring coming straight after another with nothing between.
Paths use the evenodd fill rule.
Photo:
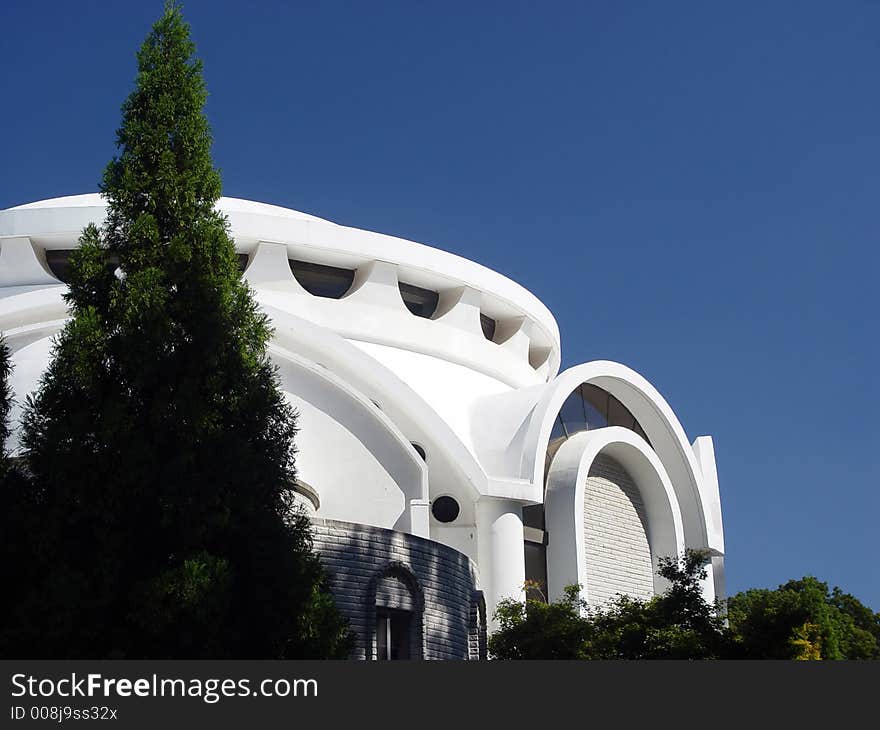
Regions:
<instances>
[{"instance_id":1,"label":"dark green shrubbery directly below the white arches","mask_svg":"<svg viewBox=\"0 0 880 730\"><path fill-rule=\"evenodd\" d=\"M658 573L670 582L643 601L617 596L607 606L589 606L579 586L559 601L502 601L498 630L489 639L497 659L711 659L730 643L723 619L702 597L708 556L688 551L663 559Z\"/></svg>"}]
</instances>

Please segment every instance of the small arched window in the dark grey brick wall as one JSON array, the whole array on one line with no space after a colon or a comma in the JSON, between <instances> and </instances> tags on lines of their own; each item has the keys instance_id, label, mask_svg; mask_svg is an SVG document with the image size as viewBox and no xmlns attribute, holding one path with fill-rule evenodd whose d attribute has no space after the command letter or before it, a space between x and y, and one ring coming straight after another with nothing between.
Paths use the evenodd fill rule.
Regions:
<instances>
[{"instance_id":1,"label":"small arched window in the dark grey brick wall","mask_svg":"<svg viewBox=\"0 0 880 730\"><path fill-rule=\"evenodd\" d=\"M392 564L374 580L375 658L378 661L422 658L424 598L409 568Z\"/></svg>"}]
</instances>

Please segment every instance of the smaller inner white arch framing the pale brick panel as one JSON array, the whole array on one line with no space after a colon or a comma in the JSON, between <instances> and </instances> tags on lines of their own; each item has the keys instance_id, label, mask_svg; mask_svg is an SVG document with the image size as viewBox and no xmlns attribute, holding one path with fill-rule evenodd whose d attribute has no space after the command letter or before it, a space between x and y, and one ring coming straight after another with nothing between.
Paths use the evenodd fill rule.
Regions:
<instances>
[{"instance_id":1,"label":"smaller inner white arch framing the pale brick panel","mask_svg":"<svg viewBox=\"0 0 880 730\"><path fill-rule=\"evenodd\" d=\"M580 584L590 599L584 539L584 489L599 454L612 457L633 477L645 505L647 537L654 569L660 557L675 557L685 546L682 515L675 490L660 458L634 431L609 426L582 431L567 439L553 458L547 476L544 518L547 545L547 588L556 599L568 585ZM654 591L666 582L654 576Z\"/></svg>"}]
</instances>

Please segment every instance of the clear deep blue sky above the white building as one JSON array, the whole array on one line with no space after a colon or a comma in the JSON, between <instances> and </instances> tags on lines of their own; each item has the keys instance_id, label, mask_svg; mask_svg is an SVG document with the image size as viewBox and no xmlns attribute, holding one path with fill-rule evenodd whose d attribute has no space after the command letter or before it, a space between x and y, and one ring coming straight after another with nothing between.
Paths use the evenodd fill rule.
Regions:
<instances>
[{"instance_id":1,"label":"clear deep blue sky above the white building","mask_svg":"<svg viewBox=\"0 0 880 730\"><path fill-rule=\"evenodd\" d=\"M94 191L162 4L0 3L0 208ZM454 251L715 438L729 587L880 609L880 4L190 0L226 195Z\"/></svg>"}]
</instances>

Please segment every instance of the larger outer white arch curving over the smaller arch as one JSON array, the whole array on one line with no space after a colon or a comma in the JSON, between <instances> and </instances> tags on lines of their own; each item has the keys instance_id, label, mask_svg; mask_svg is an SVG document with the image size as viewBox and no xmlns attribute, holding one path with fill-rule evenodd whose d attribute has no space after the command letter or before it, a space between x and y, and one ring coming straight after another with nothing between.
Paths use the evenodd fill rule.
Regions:
<instances>
[{"instance_id":1,"label":"larger outer white arch curving over the smaller arch","mask_svg":"<svg viewBox=\"0 0 880 730\"><path fill-rule=\"evenodd\" d=\"M562 404L582 383L592 383L611 393L635 416L660 457L681 509L687 547L723 552L719 530L709 529L702 472L678 417L662 395L645 378L620 363L594 360L576 365L548 384L535 406L522 450L521 476L540 487L544 458L553 422Z\"/></svg>"}]
</instances>

